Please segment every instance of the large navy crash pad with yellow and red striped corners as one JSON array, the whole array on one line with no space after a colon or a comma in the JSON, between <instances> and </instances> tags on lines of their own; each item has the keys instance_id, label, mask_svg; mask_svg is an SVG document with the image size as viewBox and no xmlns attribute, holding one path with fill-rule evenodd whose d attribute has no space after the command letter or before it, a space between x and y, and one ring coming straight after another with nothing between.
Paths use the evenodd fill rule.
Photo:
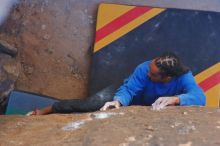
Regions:
<instances>
[{"instance_id":1,"label":"large navy crash pad with yellow and red striped corners","mask_svg":"<svg viewBox=\"0 0 220 146\"><path fill-rule=\"evenodd\" d=\"M151 6L99 5L89 93L123 80L163 52L190 67L207 96L220 99L220 13Z\"/></svg>"}]
</instances>

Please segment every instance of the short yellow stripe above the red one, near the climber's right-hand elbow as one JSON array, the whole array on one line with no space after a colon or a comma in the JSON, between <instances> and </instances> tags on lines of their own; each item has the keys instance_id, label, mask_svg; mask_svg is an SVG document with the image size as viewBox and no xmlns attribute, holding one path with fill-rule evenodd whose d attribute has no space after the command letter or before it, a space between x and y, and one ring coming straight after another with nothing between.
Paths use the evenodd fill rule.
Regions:
<instances>
[{"instance_id":1,"label":"short yellow stripe above the red one, near the climber's right-hand elbow","mask_svg":"<svg viewBox=\"0 0 220 146\"><path fill-rule=\"evenodd\" d=\"M211 66L210 68L206 69L205 71L199 73L195 76L196 82L199 84L200 82L204 81L205 79L209 78L213 74L220 71L220 62Z\"/></svg>"}]
</instances>

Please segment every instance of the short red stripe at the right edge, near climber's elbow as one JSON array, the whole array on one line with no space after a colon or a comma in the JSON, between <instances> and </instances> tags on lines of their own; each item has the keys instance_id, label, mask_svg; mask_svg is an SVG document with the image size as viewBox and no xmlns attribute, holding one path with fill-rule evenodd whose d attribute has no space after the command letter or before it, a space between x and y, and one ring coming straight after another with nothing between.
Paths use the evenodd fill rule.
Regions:
<instances>
[{"instance_id":1,"label":"short red stripe at the right edge, near climber's elbow","mask_svg":"<svg viewBox=\"0 0 220 146\"><path fill-rule=\"evenodd\" d=\"M205 91L220 83L220 71L199 83L199 86Z\"/></svg>"}]
</instances>

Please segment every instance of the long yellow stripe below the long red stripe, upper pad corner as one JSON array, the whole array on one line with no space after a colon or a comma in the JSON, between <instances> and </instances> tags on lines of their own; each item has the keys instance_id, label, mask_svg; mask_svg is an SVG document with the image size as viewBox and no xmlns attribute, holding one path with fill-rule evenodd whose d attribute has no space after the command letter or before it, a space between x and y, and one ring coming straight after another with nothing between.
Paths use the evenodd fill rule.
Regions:
<instances>
[{"instance_id":1,"label":"long yellow stripe below the long red stripe, upper pad corner","mask_svg":"<svg viewBox=\"0 0 220 146\"><path fill-rule=\"evenodd\" d=\"M133 21L129 22L128 24L126 24L122 28L116 30L115 32L109 34L108 36L106 36L102 40L95 43L94 52L100 50L104 46L106 46L106 45L110 44L111 42L115 41L116 39L122 37L123 35L125 35L129 31L133 30L134 28L138 27L139 25L143 24L144 22L148 21L152 17L160 14L164 10L165 9L162 9L162 8L153 8L153 9L149 10L148 12L139 16L138 18L134 19Z\"/></svg>"}]
</instances>

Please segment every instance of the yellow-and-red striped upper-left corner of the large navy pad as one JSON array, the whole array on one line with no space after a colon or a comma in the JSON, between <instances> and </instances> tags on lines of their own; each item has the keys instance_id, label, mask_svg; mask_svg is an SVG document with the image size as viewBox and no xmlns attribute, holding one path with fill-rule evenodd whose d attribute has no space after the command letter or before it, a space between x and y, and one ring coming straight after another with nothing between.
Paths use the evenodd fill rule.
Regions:
<instances>
[{"instance_id":1,"label":"yellow-and-red striped upper-left corner of the large navy pad","mask_svg":"<svg viewBox=\"0 0 220 146\"><path fill-rule=\"evenodd\" d=\"M122 9L122 6L114 4L101 4L99 7L97 19L105 18L107 22L103 20L97 21L94 52L97 52L165 10L162 8L123 6L123 9L116 13L115 7L116 9ZM110 15L110 20L106 19L107 16L101 14Z\"/></svg>"}]
</instances>

